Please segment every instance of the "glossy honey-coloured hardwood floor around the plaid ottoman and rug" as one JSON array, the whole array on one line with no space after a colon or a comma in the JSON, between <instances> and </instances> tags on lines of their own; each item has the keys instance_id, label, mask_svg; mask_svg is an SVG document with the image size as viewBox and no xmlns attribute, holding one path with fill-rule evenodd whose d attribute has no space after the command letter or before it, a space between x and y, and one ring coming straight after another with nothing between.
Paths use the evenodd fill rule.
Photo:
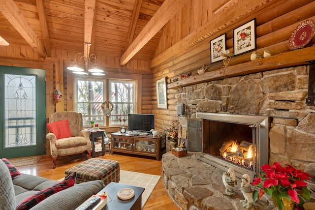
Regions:
<instances>
[{"instance_id":1,"label":"glossy honey-coloured hardwood floor around the plaid ottoman and rug","mask_svg":"<svg viewBox=\"0 0 315 210\"><path fill-rule=\"evenodd\" d=\"M155 158L142 156L128 156L120 154L96 156L97 158L116 160L120 164L120 169L139 173L159 175L161 178L154 188L150 198L146 202L143 210L180 210L171 196L167 193L162 180L162 162ZM87 160L87 154L76 154L69 156L59 156L57 158L56 169L52 168L50 156L42 156L36 165L18 166L21 173L44 177L50 180L59 180L64 177L64 171L78 163Z\"/></svg>"}]
</instances>

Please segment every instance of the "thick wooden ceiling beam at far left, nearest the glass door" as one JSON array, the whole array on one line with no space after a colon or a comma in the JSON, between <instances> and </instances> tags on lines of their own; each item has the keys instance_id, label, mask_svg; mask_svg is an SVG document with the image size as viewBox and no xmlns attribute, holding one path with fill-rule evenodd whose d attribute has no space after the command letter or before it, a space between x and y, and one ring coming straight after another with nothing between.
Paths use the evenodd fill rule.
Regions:
<instances>
[{"instance_id":1,"label":"thick wooden ceiling beam at far left, nearest the glass door","mask_svg":"<svg viewBox=\"0 0 315 210\"><path fill-rule=\"evenodd\" d=\"M12 24L22 37L31 45L34 51L40 56L45 57L45 48L38 39L34 30L28 24L26 18L13 0L0 0L0 12Z\"/></svg>"}]
</instances>

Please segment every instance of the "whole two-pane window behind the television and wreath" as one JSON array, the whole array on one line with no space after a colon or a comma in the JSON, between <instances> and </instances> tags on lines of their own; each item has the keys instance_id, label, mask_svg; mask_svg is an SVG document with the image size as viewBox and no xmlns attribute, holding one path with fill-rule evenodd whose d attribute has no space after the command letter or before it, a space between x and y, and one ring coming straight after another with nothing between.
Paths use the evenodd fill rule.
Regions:
<instances>
[{"instance_id":1,"label":"whole two-pane window behind the television and wreath","mask_svg":"<svg viewBox=\"0 0 315 210\"><path fill-rule=\"evenodd\" d=\"M106 84L109 84L109 89ZM135 84L131 80L76 78L75 110L82 113L83 126L91 126L90 121L99 125L115 126L123 123L119 119L125 119L127 124L128 114L135 113ZM114 105L109 118L104 116L101 108L102 103L107 100Z\"/></svg>"}]
</instances>

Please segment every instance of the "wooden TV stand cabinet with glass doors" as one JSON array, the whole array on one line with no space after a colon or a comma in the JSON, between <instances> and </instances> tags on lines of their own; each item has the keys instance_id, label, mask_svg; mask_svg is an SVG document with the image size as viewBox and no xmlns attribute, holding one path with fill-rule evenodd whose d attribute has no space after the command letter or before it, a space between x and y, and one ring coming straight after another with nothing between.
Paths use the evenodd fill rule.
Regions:
<instances>
[{"instance_id":1,"label":"wooden TV stand cabinet with glass doors","mask_svg":"<svg viewBox=\"0 0 315 210\"><path fill-rule=\"evenodd\" d=\"M157 161L165 153L165 139L161 136L153 135L133 135L128 133L116 132L111 134L111 150L113 152L138 154L156 157Z\"/></svg>"}]
</instances>

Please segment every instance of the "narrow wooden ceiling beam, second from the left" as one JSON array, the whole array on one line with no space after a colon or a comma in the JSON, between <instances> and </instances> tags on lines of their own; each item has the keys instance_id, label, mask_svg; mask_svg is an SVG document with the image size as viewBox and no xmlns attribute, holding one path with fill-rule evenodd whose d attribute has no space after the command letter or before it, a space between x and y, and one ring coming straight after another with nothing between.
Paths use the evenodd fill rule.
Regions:
<instances>
[{"instance_id":1,"label":"narrow wooden ceiling beam, second from the left","mask_svg":"<svg viewBox=\"0 0 315 210\"><path fill-rule=\"evenodd\" d=\"M44 38L44 45L46 49L46 55L48 57L51 57L51 46L50 46L50 41L49 41L49 33L48 33L47 20L46 20L43 0L36 0L36 5L37 5L40 26L43 30L42 32L43 32L43 38Z\"/></svg>"}]
</instances>

